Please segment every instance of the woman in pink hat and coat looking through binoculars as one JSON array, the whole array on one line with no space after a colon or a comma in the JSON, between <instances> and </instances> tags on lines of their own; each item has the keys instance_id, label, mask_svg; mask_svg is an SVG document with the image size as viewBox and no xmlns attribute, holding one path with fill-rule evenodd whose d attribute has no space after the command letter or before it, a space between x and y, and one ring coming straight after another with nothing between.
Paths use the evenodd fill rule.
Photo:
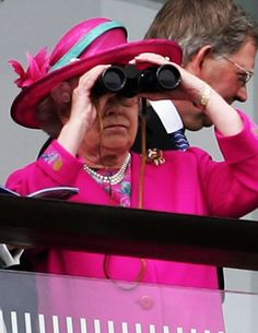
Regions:
<instances>
[{"instance_id":1,"label":"woman in pink hat and coat looking through binoculars","mask_svg":"<svg viewBox=\"0 0 258 333\"><path fill-rule=\"evenodd\" d=\"M31 59L27 72L12 61L21 75L16 83L23 87L12 105L13 119L43 129L56 140L38 160L13 173L7 187L26 195L46 187L72 186L80 189L70 199L75 202L197 215L238 217L256 209L258 144L251 122L203 81L180 68L180 48L173 41L127 43L119 24L93 19L69 31L50 61L42 51ZM140 69L173 64L181 82L175 90L132 97L93 94L98 78L110 64L127 63ZM197 147L149 156L146 160L144 154L131 153L140 97L189 99L199 106L214 123L225 162L213 162ZM46 257L36 257L35 270L218 288L215 266L67 250L52 249Z\"/></svg>"}]
</instances>

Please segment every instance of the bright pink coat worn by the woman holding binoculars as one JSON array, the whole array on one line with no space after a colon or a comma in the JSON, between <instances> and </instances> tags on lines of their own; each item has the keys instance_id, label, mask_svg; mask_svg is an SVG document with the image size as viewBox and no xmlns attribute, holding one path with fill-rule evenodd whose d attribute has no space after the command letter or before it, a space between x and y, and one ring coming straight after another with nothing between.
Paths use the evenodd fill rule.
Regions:
<instances>
[{"instance_id":1,"label":"bright pink coat worn by the woman holding binoculars","mask_svg":"<svg viewBox=\"0 0 258 333\"><path fill-rule=\"evenodd\" d=\"M162 166L148 164L143 207L228 217L255 210L258 206L257 134L247 117L242 117L245 129L237 135L223 138L216 133L225 162L216 163L202 150L191 147L187 152L166 152ZM140 163L141 157L132 154L132 207L138 206ZM13 173L7 186L22 195L46 187L73 186L80 193L72 201L106 205L109 200L83 170L83 162L71 156L57 141L39 160ZM103 254L52 249L47 258L36 258L37 271L105 278ZM134 281L140 269L141 261L137 258L113 255L109 263L110 276L117 280ZM162 260L148 260L143 282L218 288L216 267Z\"/></svg>"}]
</instances>

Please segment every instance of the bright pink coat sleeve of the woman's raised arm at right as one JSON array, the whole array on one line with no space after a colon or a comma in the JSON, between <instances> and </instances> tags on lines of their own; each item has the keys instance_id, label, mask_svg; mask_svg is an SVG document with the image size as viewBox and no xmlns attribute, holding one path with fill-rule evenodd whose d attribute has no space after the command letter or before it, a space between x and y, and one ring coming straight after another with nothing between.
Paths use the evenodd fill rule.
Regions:
<instances>
[{"instance_id":1,"label":"bright pink coat sleeve of the woman's raised arm at right","mask_svg":"<svg viewBox=\"0 0 258 333\"><path fill-rule=\"evenodd\" d=\"M211 215L239 217L258 207L258 130L243 112L244 130L233 136L216 132L224 162L200 163Z\"/></svg>"}]
</instances>

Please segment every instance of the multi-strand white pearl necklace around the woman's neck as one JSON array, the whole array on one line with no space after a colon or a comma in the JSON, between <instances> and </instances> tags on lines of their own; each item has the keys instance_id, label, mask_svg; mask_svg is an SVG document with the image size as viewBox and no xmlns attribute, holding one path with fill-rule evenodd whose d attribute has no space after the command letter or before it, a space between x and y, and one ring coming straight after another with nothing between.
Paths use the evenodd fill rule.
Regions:
<instances>
[{"instance_id":1,"label":"multi-strand white pearl necklace around the woman's neck","mask_svg":"<svg viewBox=\"0 0 258 333\"><path fill-rule=\"evenodd\" d=\"M127 158L125 159L125 162L122 163L122 166L120 167L120 169L113 176L104 176L101 175L98 173L96 173L95 170L93 170L92 168L90 168L86 164L84 164L83 169L90 175L92 176L96 181L99 182L105 182L105 183L110 183L110 185L117 185L119 182L122 181L122 179L126 176L126 169L128 168L129 164L131 160L131 154L128 153Z\"/></svg>"}]
</instances>

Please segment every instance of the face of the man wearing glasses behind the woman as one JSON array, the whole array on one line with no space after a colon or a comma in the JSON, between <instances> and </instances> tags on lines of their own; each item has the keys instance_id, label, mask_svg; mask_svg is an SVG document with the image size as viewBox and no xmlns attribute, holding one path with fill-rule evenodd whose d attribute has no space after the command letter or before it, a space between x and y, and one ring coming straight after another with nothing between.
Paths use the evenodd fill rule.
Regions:
<instances>
[{"instance_id":1,"label":"face of the man wearing glasses behind the woman","mask_svg":"<svg viewBox=\"0 0 258 333\"><path fill-rule=\"evenodd\" d=\"M198 73L192 70L190 62L185 67L210 84L228 104L235 100L245 102L247 99L245 80L248 73L254 71L256 52L256 46L248 40L237 52L227 58L206 57ZM191 103L175 104L187 129L197 131L202 127L212 126L209 118Z\"/></svg>"}]
</instances>

